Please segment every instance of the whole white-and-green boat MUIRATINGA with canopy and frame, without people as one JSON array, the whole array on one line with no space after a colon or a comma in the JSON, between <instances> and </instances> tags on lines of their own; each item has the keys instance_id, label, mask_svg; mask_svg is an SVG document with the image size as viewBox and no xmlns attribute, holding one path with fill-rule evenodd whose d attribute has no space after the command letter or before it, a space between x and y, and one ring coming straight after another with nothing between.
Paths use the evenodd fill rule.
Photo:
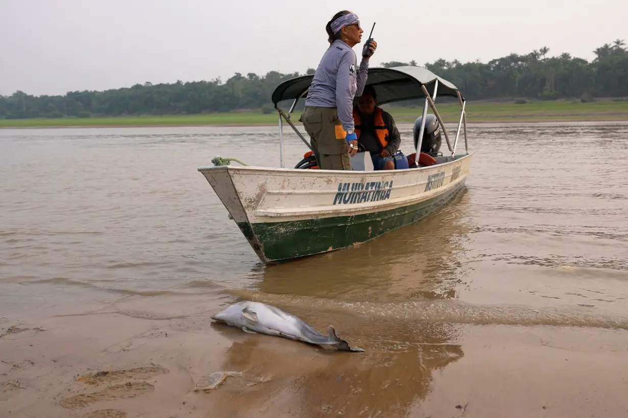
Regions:
<instances>
[{"instance_id":1,"label":"whole white-and-green boat MUIRATINGA with canopy and frame, without people","mask_svg":"<svg viewBox=\"0 0 628 418\"><path fill-rule=\"evenodd\" d=\"M313 75L291 78L273 91L273 105L279 113L281 167L232 165L217 156L212 159L213 166L198 168L229 212L229 218L265 264L350 248L412 224L447 204L465 187L470 170L473 153L468 149L466 100L453 83L420 66L369 68L366 83L375 88L379 106L425 99L423 114L413 127L416 153L408 168L359 167L360 157L362 162L370 160L364 152L352 157L352 170L286 168L284 122L311 150L291 115L298 101L307 96L312 78ZM453 145L436 110L437 93L438 97L453 97L460 103ZM286 100L292 101L288 113L279 105ZM433 115L428 115L428 107ZM430 117L434 123L428 122ZM438 146L429 149L424 138L428 138L427 127L434 124L436 130L429 138L438 138ZM457 154L461 129L465 152ZM441 133L449 152L438 150Z\"/></svg>"}]
</instances>

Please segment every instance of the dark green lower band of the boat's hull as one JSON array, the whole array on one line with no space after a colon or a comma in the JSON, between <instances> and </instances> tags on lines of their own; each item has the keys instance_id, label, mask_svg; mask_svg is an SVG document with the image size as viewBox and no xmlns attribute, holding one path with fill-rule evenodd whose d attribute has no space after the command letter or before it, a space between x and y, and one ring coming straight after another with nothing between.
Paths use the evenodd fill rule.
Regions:
<instances>
[{"instance_id":1,"label":"dark green lower band of the boat's hull","mask_svg":"<svg viewBox=\"0 0 628 418\"><path fill-rule=\"evenodd\" d=\"M301 221L239 222L238 226L262 261L293 259L364 243L416 222L446 204L463 185L464 181L447 194L388 211Z\"/></svg>"}]
</instances>

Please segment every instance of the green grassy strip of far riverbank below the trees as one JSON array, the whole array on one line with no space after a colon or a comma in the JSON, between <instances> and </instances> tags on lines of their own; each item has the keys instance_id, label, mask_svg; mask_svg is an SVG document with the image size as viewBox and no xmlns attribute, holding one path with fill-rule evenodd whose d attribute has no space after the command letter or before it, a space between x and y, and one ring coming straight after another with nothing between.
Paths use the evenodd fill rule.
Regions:
<instances>
[{"instance_id":1,"label":"green grassy strip of far riverbank below the trees","mask_svg":"<svg viewBox=\"0 0 628 418\"><path fill-rule=\"evenodd\" d=\"M421 107L384 108L397 123L411 123L421 115ZM436 103L445 123L457 123L460 106L457 103ZM431 112L431 111L430 111ZM292 119L296 122L300 112ZM580 100L553 100L544 102L468 102L468 123L512 122L591 122L628 120L628 100L599 99L582 103ZM228 112L200 115L139 115L124 117L6 119L0 128L53 127L181 127L181 126L269 126L278 123L276 112Z\"/></svg>"}]
</instances>

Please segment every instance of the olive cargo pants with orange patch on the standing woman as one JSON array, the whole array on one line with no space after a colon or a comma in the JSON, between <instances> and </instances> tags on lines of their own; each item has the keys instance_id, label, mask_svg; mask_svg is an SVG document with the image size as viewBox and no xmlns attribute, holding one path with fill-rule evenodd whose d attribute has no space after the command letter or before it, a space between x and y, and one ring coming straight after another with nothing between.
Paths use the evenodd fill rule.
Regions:
<instances>
[{"instance_id":1,"label":"olive cargo pants with orange patch on the standing woman","mask_svg":"<svg viewBox=\"0 0 628 418\"><path fill-rule=\"evenodd\" d=\"M321 170L351 170L347 132L335 107L305 107L300 121L310 135L310 145Z\"/></svg>"}]
</instances>

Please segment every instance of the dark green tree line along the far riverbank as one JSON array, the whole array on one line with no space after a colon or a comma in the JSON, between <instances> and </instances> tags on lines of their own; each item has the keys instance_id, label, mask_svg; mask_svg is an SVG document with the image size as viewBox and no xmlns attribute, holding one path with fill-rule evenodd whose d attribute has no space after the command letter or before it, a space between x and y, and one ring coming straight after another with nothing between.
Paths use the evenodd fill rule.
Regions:
<instances>
[{"instance_id":1,"label":"dark green tree line along the far riverbank","mask_svg":"<svg viewBox=\"0 0 628 418\"><path fill-rule=\"evenodd\" d=\"M482 63L443 59L424 66L452 81L467 100L534 98L554 100L628 96L628 49L622 39L607 43L595 52L592 61L568 53L548 58L543 47L527 55L511 55ZM416 61L391 61L381 66L414 65ZM306 74L312 74L309 68ZM211 81L183 83L150 82L106 91L68 91L61 96L35 97L23 91L0 95L0 118L60 118L124 115L176 115L259 110L273 112L271 93L281 82L300 74L270 71L264 76L241 73L224 83ZM302 105L302 103L301 103Z\"/></svg>"}]
</instances>

